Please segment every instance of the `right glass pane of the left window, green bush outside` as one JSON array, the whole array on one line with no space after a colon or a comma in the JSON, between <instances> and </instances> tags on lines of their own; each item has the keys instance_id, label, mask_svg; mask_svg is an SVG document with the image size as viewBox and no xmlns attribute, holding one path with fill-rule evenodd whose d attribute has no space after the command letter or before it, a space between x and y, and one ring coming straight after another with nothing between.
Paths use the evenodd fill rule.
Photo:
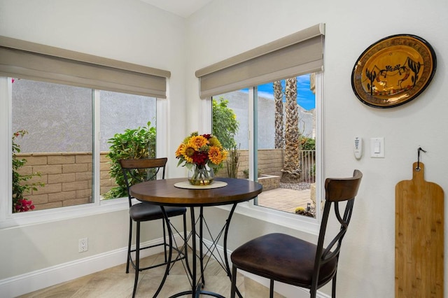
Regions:
<instances>
[{"instance_id":1,"label":"right glass pane of the left window, green bush outside","mask_svg":"<svg viewBox=\"0 0 448 298\"><path fill-rule=\"evenodd\" d=\"M96 94L99 96L101 114L99 125L101 136L99 140L101 151L100 195L101 199L116 199L124 195L124 185L119 187L116 184L116 178L113 176L121 175L121 171L116 166L112 166L111 169L110 162L113 162L113 160L108 154L110 150L113 150L114 157L156 157L157 101L154 97L119 92L100 91ZM139 142L132 144L132 139L135 141L139 139ZM146 142L148 150L140 152L144 142ZM118 145L120 143L123 143L123 149ZM134 148L134 151L127 154L125 150L130 148Z\"/></svg>"}]
</instances>

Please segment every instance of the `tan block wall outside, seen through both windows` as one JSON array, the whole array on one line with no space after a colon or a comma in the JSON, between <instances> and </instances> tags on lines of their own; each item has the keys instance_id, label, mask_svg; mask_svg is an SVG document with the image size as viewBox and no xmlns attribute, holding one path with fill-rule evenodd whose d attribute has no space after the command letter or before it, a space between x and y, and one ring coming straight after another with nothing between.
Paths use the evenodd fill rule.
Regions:
<instances>
[{"instance_id":1,"label":"tan block wall outside, seen through both windows","mask_svg":"<svg viewBox=\"0 0 448 298\"><path fill-rule=\"evenodd\" d=\"M100 194L116 186L109 175L110 160L107 152L100 155ZM59 208L88 204L92 202L92 153L90 152L41 152L20 153L18 158L27 159L19 169L22 175L41 173L28 180L29 183L44 183L44 187L31 190L25 197L33 201L35 210ZM238 178L245 178L243 171L248 169L248 150L240 150ZM278 176L260 179L265 190L276 188L281 177L283 150L258 150L258 165L263 175ZM227 176L227 168L217 174ZM278 180L278 181L277 181Z\"/></svg>"}]
</instances>

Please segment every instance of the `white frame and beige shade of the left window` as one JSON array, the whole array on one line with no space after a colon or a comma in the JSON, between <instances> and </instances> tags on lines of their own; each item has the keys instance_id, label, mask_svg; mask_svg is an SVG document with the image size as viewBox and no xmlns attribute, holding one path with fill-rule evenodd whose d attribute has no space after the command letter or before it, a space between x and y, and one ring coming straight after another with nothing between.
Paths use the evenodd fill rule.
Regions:
<instances>
[{"instance_id":1,"label":"white frame and beige shade of the left window","mask_svg":"<svg viewBox=\"0 0 448 298\"><path fill-rule=\"evenodd\" d=\"M12 86L10 78L43 80L87 87L92 90L109 90L156 98L157 152L166 152L167 141L160 139L160 132L167 130L167 98L170 71L131 64L105 57L31 43L20 39L0 36L0 162L7 164L0 169L0 229L76 218L96 213L125 210L127 198L90 204L66 206L42 211L12 213ZM26 57L26 59L23 59ZM31 63L32 62L32 63ZM29 67L29 63L32 67ZM63 67L66 66L66 67ZM95 106L94 121L99 121L99 108ZM97 114L98 113L98 114ZM163 114L159 114L163 113ZM165 116L165 117L164 117ZM93 139L99 139L99 125L94 123ZM94 177L92 192L99 198L99 143L94 143L92 161ZM97 155L97 158L94 156ZM97 180L95 180L97 179Z\"/></svg>"}]
</instances>

